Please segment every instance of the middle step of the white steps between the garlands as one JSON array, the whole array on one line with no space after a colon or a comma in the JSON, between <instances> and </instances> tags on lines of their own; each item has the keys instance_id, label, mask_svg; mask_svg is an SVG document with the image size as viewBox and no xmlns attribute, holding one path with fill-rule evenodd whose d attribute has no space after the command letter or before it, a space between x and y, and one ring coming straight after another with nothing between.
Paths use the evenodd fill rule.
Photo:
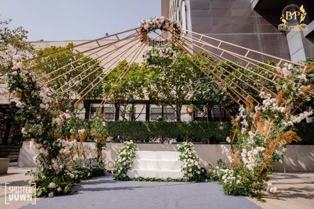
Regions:
<instances>
[{"instance_id":1,"label":"middle step of the white steps between the garlands","mask_svg":"<svg viewBox=\"0 0 314 209\"><path fill-rule=\"evenodd\" d=\"M134 160L133 169L180 170L180 160Z\"/></svg>"}]
</instances>

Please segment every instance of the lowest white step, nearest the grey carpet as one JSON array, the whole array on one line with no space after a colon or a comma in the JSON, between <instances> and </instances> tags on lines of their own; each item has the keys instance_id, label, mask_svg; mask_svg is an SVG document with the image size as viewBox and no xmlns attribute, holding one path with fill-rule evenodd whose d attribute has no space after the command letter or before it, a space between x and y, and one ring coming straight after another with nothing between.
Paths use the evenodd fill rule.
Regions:
<instances>
[{"instance_id":1,"label":"lowest white step, nearest the grey carpet","mask_svg":"<svg viewBox=\"0 0 314 209\"><path fill-rule=\"evenodd\" d=\"M126 175L130 178L182 178L180 170L132 169Z\"/></svg>"}]
</instances>

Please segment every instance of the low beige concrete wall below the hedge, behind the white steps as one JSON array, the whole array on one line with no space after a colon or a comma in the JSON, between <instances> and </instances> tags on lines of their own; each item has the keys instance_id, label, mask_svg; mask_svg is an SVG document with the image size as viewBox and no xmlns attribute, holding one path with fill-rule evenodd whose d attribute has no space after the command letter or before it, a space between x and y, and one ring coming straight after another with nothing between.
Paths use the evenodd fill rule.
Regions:
<instances>
[{"instance_id":1,"label":"low beige concrete wall below the hedge, behind the white steps","mask_svg":"<svg viewBox=\"0 0 314 209\"><path fill-rule=\"evenodd\" d=\"M94 148L93 142L85 143L86 146ZM106 162L112 165L117 157L119 148L123 144L110 143L106 148ZM227 146L227 145L226 145ZM177 150L177 145L174 144L137 144L138 150L149 151L173 151ZM208 168L208 164L216 164L217 160L226 160L225 155L221 153L220 145L218 144L202 144L195 145L195 150L200 157L201 167ZM33 163L33 156L38 151L29 148L29 142L23 142L23 147L20 150L18 161L19 167L36 167ZM95 157L91 153L91 157ZM287 155L283 160L274 163L274 171L278 172L314 172L314 145L289 145L287 146Z\"/></svg>"}]
</instances>

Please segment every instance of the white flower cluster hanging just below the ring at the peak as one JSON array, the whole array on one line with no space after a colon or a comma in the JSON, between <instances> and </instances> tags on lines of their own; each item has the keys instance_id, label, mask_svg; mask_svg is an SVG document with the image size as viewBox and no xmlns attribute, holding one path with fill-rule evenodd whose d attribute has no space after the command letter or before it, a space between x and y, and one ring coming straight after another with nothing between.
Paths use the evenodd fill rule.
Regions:
<instances>
[{"instance_id":1,"label":"white flower cluster hanging just below the ring at the peak","mask_svg":"<svg viewBox=\"0 0 314 209\"><path fill-rule=\"evenodd\" d=\"M172 65L177 59L177 54L172 47L151 47L144 52L143 61L148 65L158 65L167 61L168 65Z\"/></svg>"}]
</instances>

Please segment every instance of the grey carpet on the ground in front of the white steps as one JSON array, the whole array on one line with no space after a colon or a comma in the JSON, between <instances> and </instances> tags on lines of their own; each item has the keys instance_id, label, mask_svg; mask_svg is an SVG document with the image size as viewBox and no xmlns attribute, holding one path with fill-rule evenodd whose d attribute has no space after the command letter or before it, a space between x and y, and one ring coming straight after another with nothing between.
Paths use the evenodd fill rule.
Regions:
<instances>
[{"instance_id":1,"label":"grey carpet on the ground in front of the white steps","mask_svg":"<svg viewBox=\"0 0 314 209\"><path fill-rule=\"evenodd\" d=\"M260 208L242 196L226 196L216 183L89 180L77 192L38 201L23 208Z\"/></svg>"}]
</instances>

